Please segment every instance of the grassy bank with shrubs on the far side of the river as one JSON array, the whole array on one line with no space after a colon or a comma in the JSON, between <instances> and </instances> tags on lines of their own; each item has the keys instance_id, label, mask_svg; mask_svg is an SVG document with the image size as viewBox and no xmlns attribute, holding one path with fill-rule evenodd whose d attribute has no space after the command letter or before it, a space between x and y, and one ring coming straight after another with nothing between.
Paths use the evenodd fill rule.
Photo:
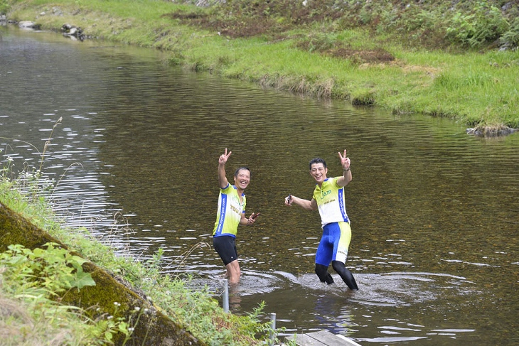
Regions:
<instances>
[{"instance_id":1,"label":"grassy bank with shrubs on the far side of the river","mask_svg":"<svg viewBox=\"0 0 519 346\"><path fill-rule=\"evenodd\" d=\"M499 1L177 2L7 0L10 19L167 50L171 63L193 70L468 127L519 128L517 1L507 11Z\"/></svg>"}]
</instances>

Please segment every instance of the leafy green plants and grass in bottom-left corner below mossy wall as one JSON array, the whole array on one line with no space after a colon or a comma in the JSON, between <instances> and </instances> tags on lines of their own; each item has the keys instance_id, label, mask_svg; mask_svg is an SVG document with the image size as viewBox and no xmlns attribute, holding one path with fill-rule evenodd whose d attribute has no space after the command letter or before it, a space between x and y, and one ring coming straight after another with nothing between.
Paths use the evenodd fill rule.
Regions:
<instances>
[{"instance_id":1,"label":"leafy green plants and grass in bottom-left corner below mossy wall","mask_svg":"<svg viewBox=\"0 0 519 346\"><path fill-rule=\"evenodd\" d=\"M45 247L10 245L0 254L0 329L14 334L3 345L109 345L115 333L128 340L132 328L127 321L106 315L92 320L84 310L58 302L65 291L95 282L82 271L85 259L57 244Z\"/></svg>"}]
</instances>

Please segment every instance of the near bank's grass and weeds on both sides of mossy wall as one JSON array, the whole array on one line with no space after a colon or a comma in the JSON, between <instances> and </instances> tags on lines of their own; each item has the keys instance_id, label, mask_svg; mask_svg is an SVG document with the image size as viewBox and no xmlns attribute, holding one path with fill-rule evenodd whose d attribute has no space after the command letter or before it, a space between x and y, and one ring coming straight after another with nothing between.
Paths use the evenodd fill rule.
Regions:
<instances>
[{"instance_id":1,"label":"near bank's grass and weeds on both sides of mossy wall","mask_svg":"<svg viewBox=\"0 0 519 346\"><path fill-rule=\"evenodd\" d=\"M120 300L109 302L114 304L113 313L103 313L101 303L77 307L60 299L64 293L74 294L75 289L98 284L82 271L85 261L127 282L153 302L154 308L206 345L263 345L267 340L269 324L260 322L261 304L248 315L225 313L213 293L188 288L188 276L164 274L160 252L151 259L129 253L120 256L107 243L109 238L100 242L87 229L63 227L51 209L55 183L42 179L34 167L24 168L16 178L14 174L8 157L0 163L0 202L63 242L70 252L53 244L32 250L4 244L10 232L7 227L16 227L16 222L2 221L1 245L3 249L9 245L9 250L0 252L2 345L112 345L116 339L124 340L116 345L134 345L132 333L142 329L139 321L145 318L141 314L148 309L132 307L130 318L119 318ZM114 229L107 229L107 234ZM162 333L168 335L167 330Z\"/></svg>"}]
</instances>

